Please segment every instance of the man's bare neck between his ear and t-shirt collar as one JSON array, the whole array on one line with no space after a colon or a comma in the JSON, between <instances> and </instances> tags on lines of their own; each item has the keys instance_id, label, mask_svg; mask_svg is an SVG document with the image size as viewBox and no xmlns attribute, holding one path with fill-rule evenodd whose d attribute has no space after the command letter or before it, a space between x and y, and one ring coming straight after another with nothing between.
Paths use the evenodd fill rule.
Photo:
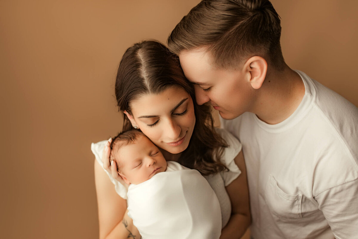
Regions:
<instances>
[{"instance_id":1,"label":"man's bare neck between his ear and t-shirt collar","mask_svg":"<svg viewBox=\"0 0 358 239\"><path fill-rule=\"evenodd\" d=\"M284 71L268 72L253 113L267 124L278 124L294 113L304 94L301 77L288 66Z\"/></svg>"}]
</instances>

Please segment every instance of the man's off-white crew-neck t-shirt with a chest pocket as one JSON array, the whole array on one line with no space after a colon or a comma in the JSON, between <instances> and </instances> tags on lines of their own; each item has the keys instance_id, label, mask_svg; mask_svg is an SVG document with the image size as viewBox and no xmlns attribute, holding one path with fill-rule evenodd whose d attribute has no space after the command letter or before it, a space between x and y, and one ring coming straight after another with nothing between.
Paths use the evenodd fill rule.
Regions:
<instances>
[{"instance_id":1,"label":"man's off-white crew-neck t-shirt with a chest pocket","mask_svg":"<svg viewBox=\"0 0 358 239\"><path fill-rule=\"evenodd\" d=\"M358 238L358 109L297 73L305 95L286 120L221 119L242 143L252 237Z\"/></svg>"}]
</instances>

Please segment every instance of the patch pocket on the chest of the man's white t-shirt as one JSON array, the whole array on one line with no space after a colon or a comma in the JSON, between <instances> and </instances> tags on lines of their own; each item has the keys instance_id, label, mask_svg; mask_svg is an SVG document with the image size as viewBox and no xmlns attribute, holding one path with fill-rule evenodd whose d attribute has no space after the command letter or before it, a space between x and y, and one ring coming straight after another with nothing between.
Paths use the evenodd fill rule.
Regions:
<instances>
[{"instance_id":1,"label":"patch pocket on the chest of the man's white t-shirt","mask_svg":"<svg viewBox=\"0 0 358 239\"><path fill-rule=\"evenodd\" d=\"M265 201L276 220L289 221L302 218L302 195L289 195L279 188L274 176L269 176L265 190ZM275 217L274 217L275 218Z\"/></svg>"}]
</instances>

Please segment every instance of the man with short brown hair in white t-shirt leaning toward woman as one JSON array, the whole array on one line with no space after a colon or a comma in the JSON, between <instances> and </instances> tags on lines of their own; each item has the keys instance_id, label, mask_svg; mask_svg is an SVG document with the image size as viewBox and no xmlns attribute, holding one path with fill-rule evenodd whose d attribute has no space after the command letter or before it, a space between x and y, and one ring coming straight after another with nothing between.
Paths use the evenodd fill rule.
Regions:
<instances>
[{"instance_id":1,"label":"man with short brown hair in white t-shirt leaning toward woman","mask_svg":"<svg viewBox=\"0 0 358 239\"><path fill-rule=\"evenodd\" d=\"M252 237L357 238L358 109L291 70L280 36L270 1L207 0L168 46L243 145Z\"/></svg>"}]
</instances>

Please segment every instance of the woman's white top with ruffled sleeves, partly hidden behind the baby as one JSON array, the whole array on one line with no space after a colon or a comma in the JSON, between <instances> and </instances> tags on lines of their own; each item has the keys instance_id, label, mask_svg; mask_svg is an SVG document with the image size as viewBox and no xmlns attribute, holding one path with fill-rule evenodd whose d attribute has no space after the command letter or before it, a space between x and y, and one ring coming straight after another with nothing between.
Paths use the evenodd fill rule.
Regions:
<instances>
[{"instance_id":1,"label":"woman's white top with ruffled sleeves, partly hidden behind the baby","mask_svg":"<svg viewBox=\"0 0 358 239\"><path fill-rule=\"evenodd\" d=\"M228 133L226 130L217 129L217 133L219 133L229 145L227 148L224 149L223 156L221 158L221 162L225 164L229 171L224 171L204 177L209 182L210 186L213 188L219 200L219 204L221 207L222 227L224 227L228 223L231 216L231 202L225 187L228 186L232 181L234 181L241 173L240 169L234 162L234 158L241 151L241 144L232 134ZM107 140L91 144L91 150L93 154L95 154L97 162L102 167L103 163L101 161L101 158L103 148L105 147L106 143ZM108 173L106 170L105 172L107 173L111 182L114 184L118 195L120 195L123 199L127 199L127 189L123 185L121 185L121 183L115 180L110 173Z\"/></svg>"}]
</instances>

